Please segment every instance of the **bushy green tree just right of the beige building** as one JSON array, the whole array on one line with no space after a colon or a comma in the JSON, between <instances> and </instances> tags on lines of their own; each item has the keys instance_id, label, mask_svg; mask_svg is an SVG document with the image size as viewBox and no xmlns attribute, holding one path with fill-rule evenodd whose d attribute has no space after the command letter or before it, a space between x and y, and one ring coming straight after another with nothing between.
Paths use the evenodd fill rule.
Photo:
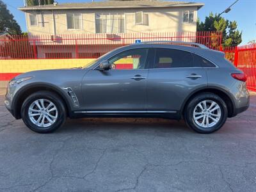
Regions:
<instances>
[{"instance_id":1,"label":"bushy green tree just right of the beige building","mask_svg":"<svg viewBox=\"0 0 256 192\"><path fill-rule=\"evenodd\" d=\"M237 30L237 22L225 20L223 17L210 13L204 22L197 20L197 31L218 31L222 33L222 46L237 46L242 42L242 32Z\"/></svg>"}]
</instances>

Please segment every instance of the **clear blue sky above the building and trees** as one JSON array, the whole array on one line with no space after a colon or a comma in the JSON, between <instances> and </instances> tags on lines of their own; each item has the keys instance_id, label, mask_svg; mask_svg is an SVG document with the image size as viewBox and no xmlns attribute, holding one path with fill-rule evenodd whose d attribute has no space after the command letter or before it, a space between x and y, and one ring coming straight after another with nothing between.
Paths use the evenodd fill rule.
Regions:
<instances>
[{"instance_id":1,"label":"clear blue sky above the building and trees","mask_svg":"<svg viewBox=\"0 0 256 192\"><path fill-rule=\"evenodd\" d=\"M24 6L24 0L2 0L8 10L14 15L15 20L19 23L22 31L27 31L25 15L17 8ZM56 0L55 0L56 1ZM97 0L96 0L97 1ZM172 0L175 1L175 0ZM186 2L204 3L205 5L198 10L199 19L205 20L210 12L221 13L235 0L179 0ZM58 3L71 3L71 2L91 2L91 0L57 0ZM228 20L236 20L239 31L242 33L242 45L247 44L250 40L256 40L256 0L239 0L231 11L221 15Z\"/></svg>"}]
</instances>

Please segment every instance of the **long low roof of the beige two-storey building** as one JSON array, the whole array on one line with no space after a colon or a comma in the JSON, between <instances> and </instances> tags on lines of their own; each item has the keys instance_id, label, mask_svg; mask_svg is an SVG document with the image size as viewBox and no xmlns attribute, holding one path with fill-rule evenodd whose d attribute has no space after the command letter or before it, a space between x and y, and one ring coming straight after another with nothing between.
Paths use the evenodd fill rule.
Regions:
<instances>
[{"instance_id":1,"label":"long low roof of the beige two-storey building","mask_svg":"<svg viewBox=\"0 0 256 192\"><path fill-rule=\"evenodd\" d=\"M204 6L204 3L189 3L184 1L97 1L92 3L62 3L47 4L41 6L26 6L19 10L68 10L68 9L115 9L115 8L170 8L181 6L197 6L198 9Z\"/></svg>"}]
</instances>

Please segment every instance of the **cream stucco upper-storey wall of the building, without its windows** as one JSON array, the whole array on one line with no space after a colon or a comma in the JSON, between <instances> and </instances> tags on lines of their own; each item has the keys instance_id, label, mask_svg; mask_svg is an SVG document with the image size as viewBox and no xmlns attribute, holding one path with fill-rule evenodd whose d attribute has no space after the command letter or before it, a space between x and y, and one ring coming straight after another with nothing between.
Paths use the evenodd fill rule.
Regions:
<instances>
[{"instance_id":1,"label":"cream stucco upper-storey wall of the building, without its windows","mask_svg":"<svg viewBox=\"0 0 256 192\"><path fill-rule=\"evenodd\" d=\"M56 20L56 34L81 34L95 33L95 13L125 13L125 33L140 32L195 32L196 22L183 23L183 12L195 11L196 7L185 8L140 8L140 9L106 9L106 10L54 10ZM143 25L135 25L135 12L143 11L147 21ZM31 35L54 34L52 11L42 11L44 15L44 27L42 27L39 12L28 12L27 26ZM29 13L36 13L38 26L30 26ZM82 13L82 29L67 29L67 13Z\"/></svg>"}]
</instances>

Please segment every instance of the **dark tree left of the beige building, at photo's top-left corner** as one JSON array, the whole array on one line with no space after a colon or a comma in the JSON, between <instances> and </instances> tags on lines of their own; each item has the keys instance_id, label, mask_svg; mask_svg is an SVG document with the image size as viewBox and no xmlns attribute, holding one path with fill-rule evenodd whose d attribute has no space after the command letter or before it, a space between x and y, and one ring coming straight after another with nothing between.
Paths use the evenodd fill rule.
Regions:
<instances>
[{"instance_id":1,"label":"dark tree left of the beige building, at photo's top-left corner","mask_svg":"<svg viewBox=\"0 0 256 192\"><path fill-rule=\"evenodd\" d=\"M7 31L11 35L19 35L21 29L12 13L6 8L6 4L0 0L0 31Z\"/></svg>"}]
</instances>

